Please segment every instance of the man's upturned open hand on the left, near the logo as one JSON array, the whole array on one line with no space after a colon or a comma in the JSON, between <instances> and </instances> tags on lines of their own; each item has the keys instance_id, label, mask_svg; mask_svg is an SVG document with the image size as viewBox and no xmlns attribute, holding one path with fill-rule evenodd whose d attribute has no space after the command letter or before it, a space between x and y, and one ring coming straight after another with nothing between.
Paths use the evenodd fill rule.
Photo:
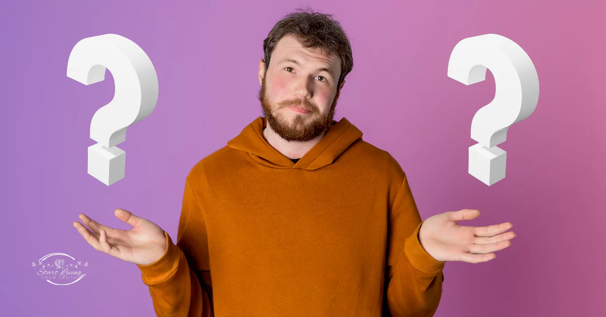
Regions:
<instances>
[{"instance_id":1,"label":"man's upturned open hand on the left, near the logo","mask_svg":"<svg viewBox=\"0 0 606 317\"><path fill-rule=\"evenodd\" d=\"M116 209L114 214L118 219L133 226L130 230L118 230L98 224L84 214L74 221L73 225L95 250L107 253L122 261L147 265L158 261L166 250L164 230L147 219L133 215L124 209Z\"/></svg>"}]
</instances>

